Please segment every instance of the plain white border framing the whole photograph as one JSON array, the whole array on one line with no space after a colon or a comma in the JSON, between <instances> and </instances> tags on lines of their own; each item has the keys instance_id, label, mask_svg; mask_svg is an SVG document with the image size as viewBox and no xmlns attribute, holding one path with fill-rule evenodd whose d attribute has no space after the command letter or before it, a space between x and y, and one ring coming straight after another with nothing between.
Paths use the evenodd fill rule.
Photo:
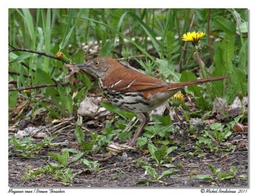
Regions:
<instances>
[{"instance_id":1,"label":"plain white border framing the whole photograph","mask_svg":"<svg viewBox=\"0 0 256 195\"><path fill-rule=\"evenodd\" d=\"M255 136L255 122L253 122L253 117L255 116L255 78L256 76L256 62L255 62L255 25L256 25L256 6L255 1L253 0L214 0L214 1L188 1L188 0L140 0L140 1L127 1L127 0L72 0L72 1L1 1L0 14L1 14L1 68L3 70L1 73L1 115L0 115L0 124L1 124L1 157L3 157L1 162L1 194L8 194L8 140L7 131L8 131L8 8L248 8L250 10L250 189L246 194L255 194L255 151L256 145L254 143ZM254 89L253 89L254 88ZM255 119L254 119L255 120ZM236 160L236 159L234 159ZM64 189L64 188L63 188ZM147 194L156 194L158 191L161 191L161 194L178 194L178 193L188 193L188 194L201 194L200 189L65 189L65 194L74 194L74 193L95 193L99 192L100 194L131 194L132 192L138 193L147 193Z\"/></svg>"}]
</instances>

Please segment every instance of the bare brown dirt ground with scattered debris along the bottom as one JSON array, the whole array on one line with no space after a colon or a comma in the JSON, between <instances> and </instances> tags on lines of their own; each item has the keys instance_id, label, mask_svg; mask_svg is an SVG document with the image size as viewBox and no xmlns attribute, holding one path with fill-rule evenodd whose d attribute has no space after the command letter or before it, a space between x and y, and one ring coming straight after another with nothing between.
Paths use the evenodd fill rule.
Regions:
<instances>
[{"instance_id":1,"label":"bare brown dirt ground with scattered debris along the bottom","mask_svg":"<svg viewBox=\"0 0 256 195\"><path fill-rule=\"evenodd\" d=\"M9 133L10 136L12 134ZM45 147L33 158L22 158L15 155L9 157L8 183L10 187L248 187L246 179L240 177L221 181L216 180L214 183L209 180L196 178L198 174L209 174L214 177L207 166L208 163L216 168L221 168L221 173L228 173L230 166L235 166L237 175L248 175L248 150L247 147L244 147L244 143L247 145L247 129L243 133L234 133L230 137L227 143L232 142L237 145L236 150L230 152L218 152L204 157L184 157L182 152L191 150L191 147L195 145L193 140L190 140L186 147L174 150L170 154L171 157L176 157L172 164L176 166L175 169L179 169L180 171L169 177L164 177L162 181L165 184L158 182L146 184L136 183L137 180L152 179L150 175L145 175L143 168L136 168L138 158L143 158L149 163L154 163L154 160L149 158L149 154L143 154L143 150L141 149L125 151L127 154L126 159L122 159L120 155L114 155L106 161L100 161L99 171L95 174L79 173L81 170L84 170L85 166L77 161L77 163L71 164L70 168L74 170L74 173L79 174L68 185L60 180L55 180L49 174L37 175L36 178L29 180L22 179L22 175L26 173L28 168L30 170L36 170L46 166L48 163L56 163L56 161L49 158L47 155L48 152L60 153L62 148L79 149L76 143L76 136L74 135L74 128L66 128L61 131L58 138L52 141L52 143L65 142L65 144L56 145L51 149ZM95 157L97 158L97 156ZM179 163L182 163L182 165L180 166ZM159 175L164 170L168 170L168 168L163 167L156 167L155 169ZM189 174L193 175L193 177L189 178Z\"/></svg>"}]
</instances>

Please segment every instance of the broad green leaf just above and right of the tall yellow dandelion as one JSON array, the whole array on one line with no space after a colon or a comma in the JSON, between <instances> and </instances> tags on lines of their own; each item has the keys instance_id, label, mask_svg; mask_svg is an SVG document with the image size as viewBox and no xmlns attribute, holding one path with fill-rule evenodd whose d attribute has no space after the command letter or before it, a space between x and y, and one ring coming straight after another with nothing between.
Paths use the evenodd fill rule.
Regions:
<instances>
[{"instance_id":1,"label":"broad green leaf just above and right of the tall yellow dandelion","mask_svg":"<svg viewBox=\"0 0 256 195\"><path fill-rule=\"evenodd\" d=\"M227 34L236 35L236 24L224 17L215 17L213 24L217 29L221 29Z\"/></svg>"}]
</instances>

